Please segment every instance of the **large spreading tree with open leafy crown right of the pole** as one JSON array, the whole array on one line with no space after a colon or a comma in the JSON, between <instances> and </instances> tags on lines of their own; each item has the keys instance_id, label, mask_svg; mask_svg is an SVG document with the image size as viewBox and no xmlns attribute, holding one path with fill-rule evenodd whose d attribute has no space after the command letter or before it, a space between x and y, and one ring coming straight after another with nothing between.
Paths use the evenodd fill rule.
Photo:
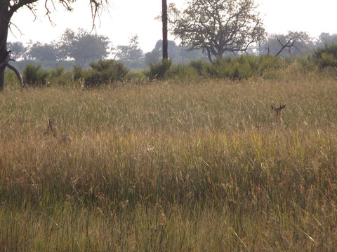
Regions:
<instances>
[{"instance_id":1,"label":"large spreading tree with open leafy crown right of the pole","mask_svg":"<svg viewBox=\"0 0 337 252\"><path fill-rule=\"evenodd\" d=\"M263 23L253 0L189 0L183 12L171 3L172 33L190 49L201 49L212 57L225 52L246 52L263 38Z\"/></svg>"}]
</instances>

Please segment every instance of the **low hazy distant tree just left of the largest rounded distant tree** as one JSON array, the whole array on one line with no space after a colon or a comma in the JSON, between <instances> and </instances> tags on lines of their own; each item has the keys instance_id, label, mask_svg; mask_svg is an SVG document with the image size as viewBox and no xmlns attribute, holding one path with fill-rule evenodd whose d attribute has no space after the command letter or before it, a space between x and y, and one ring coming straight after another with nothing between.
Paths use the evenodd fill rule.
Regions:
<instances>
[{"instance_id":1,"label":"low hazy distant tree just left of the largest rounded distant tree","mask_svg":"<svg viewBox=\"0 0 337 252\"><path fill-rule=\"evenodd\" d=\"M53 62L58 59L58 50L52 43L34 43L29 47L27 58Z\"/></svg>"}]
</instances>

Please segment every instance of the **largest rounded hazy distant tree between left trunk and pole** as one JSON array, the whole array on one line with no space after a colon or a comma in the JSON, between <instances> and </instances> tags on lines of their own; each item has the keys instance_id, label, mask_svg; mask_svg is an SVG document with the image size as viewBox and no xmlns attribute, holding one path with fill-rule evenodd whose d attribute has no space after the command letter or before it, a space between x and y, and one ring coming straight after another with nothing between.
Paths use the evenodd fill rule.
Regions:
<instances>
[{"instance_id":1,"label":"largest rounded hazy distant tree between left trunk and pole","mask_svg":"<svg viewBox=\"0 0 337 252\"><path fill-rule=\"evenodd\" d=\"M104 59L108 55L110 41L106 36L89 34L79 29L75 34L66 29L58 42L59 59L74 59L77 66Z\"/></svg>"}]
</instances>

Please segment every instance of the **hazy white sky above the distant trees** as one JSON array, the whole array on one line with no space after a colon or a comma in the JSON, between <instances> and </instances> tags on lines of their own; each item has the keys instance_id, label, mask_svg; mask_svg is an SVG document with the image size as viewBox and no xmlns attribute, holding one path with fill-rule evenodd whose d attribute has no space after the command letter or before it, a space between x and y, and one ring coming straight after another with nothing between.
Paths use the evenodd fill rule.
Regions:
<instances>
[{"instance_id":1,"label":"hazy white sky above the distant trees","mask_svg":"<svg viewBox=\"0 0 337 252\"><path fill-rule=\"evenodd\" d=\"M181 7L185 0L168 0L171 2ZM312 36L319 36L322 32L337 34L337 0L256 0L256 3L260 5L258 10L269 33L285 34L291 30L308 31ZM55 25L44 16L42 0L38 1L35 21L27 8L18 10L12 22L22 34L12 26L13 34L9 34L8 40L49 42L58 40L67 28L91 30L88 0L78 0L72 13L66 12L62 6L55 7L51 15ZM113 45L126 45L133 34L138 34L140 47L147 52L161 39L161 23L154 19L160 13L160 0L110 0L109 12L102 13L95 31L108 36Z\"/></svg>"}]
</instances>

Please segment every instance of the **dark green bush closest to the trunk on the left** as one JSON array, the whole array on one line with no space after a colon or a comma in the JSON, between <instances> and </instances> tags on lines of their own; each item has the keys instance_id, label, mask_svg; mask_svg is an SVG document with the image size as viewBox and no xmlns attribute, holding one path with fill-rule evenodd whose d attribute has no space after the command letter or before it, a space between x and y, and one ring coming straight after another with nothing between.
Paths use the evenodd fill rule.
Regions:
<instances>
[{"instance_id":1,"label":"dark green bush closest to the trunk on the left","mask_svg":"<svg viewBox=\"0 0 337 252\"><path fill-rule=\"evenodd\" d=\"M41 65L26 64L22 71L22 77L26 85L44 86L47 84L48 71L41 70Z\"/></svg>"}]
</instances>

